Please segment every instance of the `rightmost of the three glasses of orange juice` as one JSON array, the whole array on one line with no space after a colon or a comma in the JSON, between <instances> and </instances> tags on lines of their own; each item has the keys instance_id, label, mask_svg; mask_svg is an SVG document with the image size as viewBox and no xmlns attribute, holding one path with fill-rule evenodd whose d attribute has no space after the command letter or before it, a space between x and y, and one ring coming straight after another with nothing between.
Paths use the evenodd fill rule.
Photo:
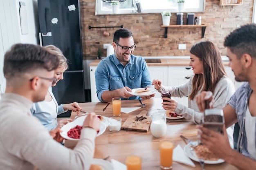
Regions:
<instances>
[{"instance_id":1,"label":"rightmost of the three glasses of orange juice","mask_svg":"<svg viewBox=\"0 0 256 170\"><path fill-rule=\"evenodd\" d=\"M164 170L173 168L173 142L168 139L160 141L160 166Z\"/></svg>"}]
</instances>

